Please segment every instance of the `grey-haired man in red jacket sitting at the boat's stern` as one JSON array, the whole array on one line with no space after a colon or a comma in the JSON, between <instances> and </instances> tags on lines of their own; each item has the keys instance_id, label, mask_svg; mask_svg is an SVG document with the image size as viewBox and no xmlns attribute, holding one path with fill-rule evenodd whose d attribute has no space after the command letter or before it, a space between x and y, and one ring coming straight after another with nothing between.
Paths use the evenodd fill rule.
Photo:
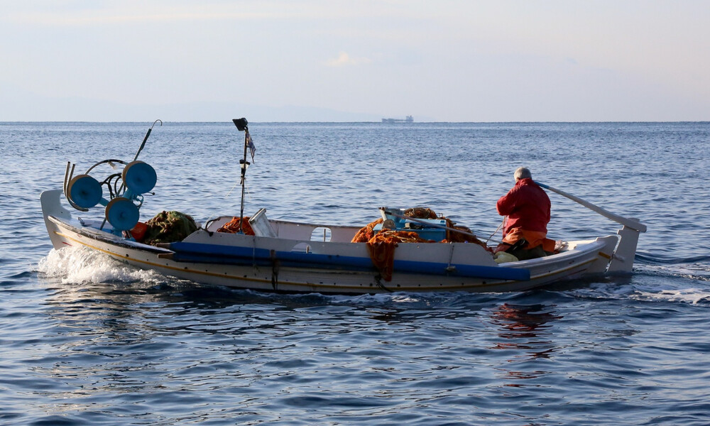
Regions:
<instances>
[{"instance_id":1,"label":"grey-haired man in red jacket sitting at the boat's stern","mask_svg":"<svg viewBox=\"0 0 710 426\"><path fill-rule=\"evenodd\" d=\"M496 251L508 251L522 261L555 250L555 241L546 238L550 198L532 181L528 168L515 170L515 186L498 200L496 209L506 216L503 244Z\"/></svg>"}]
</instances>

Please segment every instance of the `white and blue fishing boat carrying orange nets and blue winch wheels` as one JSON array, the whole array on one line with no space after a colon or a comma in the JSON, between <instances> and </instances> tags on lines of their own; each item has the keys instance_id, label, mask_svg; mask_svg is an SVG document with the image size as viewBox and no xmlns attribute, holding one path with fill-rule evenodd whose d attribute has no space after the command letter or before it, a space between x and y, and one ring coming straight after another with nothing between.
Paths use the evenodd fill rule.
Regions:
<instances>
[{"instance_id":1,"label":"white and blue fishing boat carrying orange nets and blue winch wheels","mask_svg":"<svg viewBox=\"0 0 710 426\"><path fill-rule=\"evenodd\" d=\"M381 219L369 228L269 219L266 209L246 217L244 181L250 164L247 152L253 155L253 143L246 119L235 119L234 124L245 132L239 216L227 214L204 225L196 223L195 229L173 241L141 242L137 234L146 225L138 220L139 209L143 195L157 180L155 169L138 160L151 127L133 161L99 161L80 175L74 175L75 165L67 163L64 187L41 194L43 217L55 249L82 246L166 276L269 292L506 292L585 275L630 273L638 236L646 230L637 219L618 216L540 182L545 189L618 222L621 229L595 239L557 241L550 256L501 262L486 244L452 242L452 234L469 231L439 217L413 217L400 208L379 207ZM106 163L122 165L122 170L99 182L92 174ZM89 212L99 205L104 210L98 219L72 215L72 209ZM364 229L374 235L406 232L415 238L394 244L354 242Z\"/></svg>"}]
</instances>

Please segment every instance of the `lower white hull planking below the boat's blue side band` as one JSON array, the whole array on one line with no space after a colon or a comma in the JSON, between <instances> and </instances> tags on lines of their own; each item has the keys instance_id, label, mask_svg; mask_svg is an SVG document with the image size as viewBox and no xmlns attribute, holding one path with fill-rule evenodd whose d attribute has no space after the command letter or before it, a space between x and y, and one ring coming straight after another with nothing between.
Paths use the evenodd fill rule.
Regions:
<instances>
[{"instance_id":1,"label":"lower white hull planking below the boat's blue side band","mask_svg":"<svg viewBox=\"0 0 710 426\"><path fill-rule=\"evenodd\" d=\"M241 266L178 262L159 258L158 253L141 250L138 246L128 244L119 246L111 244L111 241L94 239L77 233L71 226L62 226L60 221L57 223L58 225L55 225L58 229L57 236L66 244L86 246L138 268L153 269L165 275L173 275L200 283L284 292L383 293L389 291L527 290L565 276L582 273L596 256L596 253L587 252L584 255L586 257L582 256L584 258L581 259L577 256L568 256L563 262L540 262L540 265L532 268L535 275L528 281L395 272L393 279L387 282L378 279L378 274L375 271L291 267L282 266L278 262L270 265Z\"/></svg>"}]
</instances>

